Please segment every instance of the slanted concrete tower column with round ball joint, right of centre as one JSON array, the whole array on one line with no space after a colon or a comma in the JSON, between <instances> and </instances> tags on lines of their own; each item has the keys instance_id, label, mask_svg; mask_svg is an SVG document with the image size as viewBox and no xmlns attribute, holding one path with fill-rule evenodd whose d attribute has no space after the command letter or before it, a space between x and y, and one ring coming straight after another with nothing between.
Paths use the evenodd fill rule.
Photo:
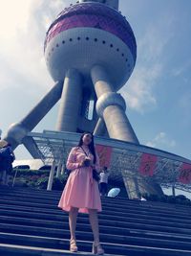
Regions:
<instances>
[{"instance_id":1,"label":"slanted concrete tower column with round ball joint, right of centre","mask_svg":"<svg viewBox=\"0 0 191 256\"><path fill-rule=\"evenodd\" d=\"M96 65L91 70L95 85L96 112L103 118L111 138L138 143L138 138L125 114L125 101L114 91L105 70Z\"/></svg>"}]
</instances>

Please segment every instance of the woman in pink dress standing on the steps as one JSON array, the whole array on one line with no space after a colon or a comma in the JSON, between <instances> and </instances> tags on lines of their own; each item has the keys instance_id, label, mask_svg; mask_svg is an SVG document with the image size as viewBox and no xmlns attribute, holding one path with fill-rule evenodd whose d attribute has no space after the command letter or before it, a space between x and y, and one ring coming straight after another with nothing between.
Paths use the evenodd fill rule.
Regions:
<instances>
[{"instance_id":1,"label":"woman in pink dress standing on the steps","mask_svg":"<svg viewBox=\"0 0 191 256\"><path fill-rule=\"evenodd\" d=\"M71 232L70 250L77 251L75 227L77 213L88 213L94 234L93 253L104 254L99 244L97 212L101 211L98 183L93 177L93 170L99 172L99 159L95 150L94 137L91 133L82 134L79 144L69 154L67 169L71 174L60 198L58 207L69 212Z\"/></svg>"}]
</instances>

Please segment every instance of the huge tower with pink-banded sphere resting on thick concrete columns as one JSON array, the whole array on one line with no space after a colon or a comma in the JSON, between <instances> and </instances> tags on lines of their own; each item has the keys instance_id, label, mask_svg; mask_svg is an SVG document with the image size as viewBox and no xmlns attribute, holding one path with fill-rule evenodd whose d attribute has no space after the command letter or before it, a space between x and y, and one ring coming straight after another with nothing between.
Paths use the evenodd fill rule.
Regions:
<instances>
[{"instance_id":1,"label":"huge tower with pink-banded sphere resting on thick concrete columns","mask_svg":"<svg viewBox=\"0 0 191 256\"><path fill-rule=\"evenodd\" d=\"M117 93L137 58L136 38L118 12L118 0L80 0L65 8L48 29L44 54L55 84L21 122L11 126L5 139L13 148L59 99L56 130L88 130L138 144L125 101Z\"/></svg>"}]
</instances>

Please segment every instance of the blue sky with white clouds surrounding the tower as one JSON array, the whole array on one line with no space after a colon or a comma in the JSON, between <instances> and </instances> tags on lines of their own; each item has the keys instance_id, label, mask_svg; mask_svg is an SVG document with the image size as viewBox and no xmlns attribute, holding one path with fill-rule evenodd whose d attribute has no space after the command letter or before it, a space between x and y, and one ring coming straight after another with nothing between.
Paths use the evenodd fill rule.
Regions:
<instances>
[{"instance_id":1,"label":"blue sky with white clouds surrounding the tower","mask_svg":"<svg viewBox=\"0 0 191 256\"><path fill-rule=\"evenodd\" d=\"M0 128L5 135L53 81L43 57L51 21L75 1L0 0ZM138 43L121 93L139 142L191 158L191 1L120 0ZM54 129L58 105L34 129ZM17 158L28 158L22 147Z\"/></svg>"}]
</instances>

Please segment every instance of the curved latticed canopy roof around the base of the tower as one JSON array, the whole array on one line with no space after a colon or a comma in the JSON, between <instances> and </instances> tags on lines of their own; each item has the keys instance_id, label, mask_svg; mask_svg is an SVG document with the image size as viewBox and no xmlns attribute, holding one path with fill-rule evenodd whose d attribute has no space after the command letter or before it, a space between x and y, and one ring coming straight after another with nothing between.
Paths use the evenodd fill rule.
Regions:
<instances>
[{"instance_id":1,"label":"curved latticed canopy roof around the base of the tower","mask_svg":"<svg viewBox=\"0 0 191 256\"><path fill-rule=\"evenodd\" d=\"M31 151L35 158L40 158L45 164L50 164L53 160L58 164L60 161L65 165L69 151L76 146L80 134L73 132L58 132L44 130L43 133L31 132L28 134L32 144ZM95 137L96 144L112 148L111 164L109 167L111 177L116 181L122 181L122 175L137 176L154 180L163 187L175 185L184 191L191 191L191 184L180 182L180 172L182 166L191 167L191 160L180 155L154 149L151 147L123 142L116 139ZM154 175L141 175L140 165L143 154L157 156ZM191 170L190 170L191 171Z\"/></svg>"}]
</instances>

